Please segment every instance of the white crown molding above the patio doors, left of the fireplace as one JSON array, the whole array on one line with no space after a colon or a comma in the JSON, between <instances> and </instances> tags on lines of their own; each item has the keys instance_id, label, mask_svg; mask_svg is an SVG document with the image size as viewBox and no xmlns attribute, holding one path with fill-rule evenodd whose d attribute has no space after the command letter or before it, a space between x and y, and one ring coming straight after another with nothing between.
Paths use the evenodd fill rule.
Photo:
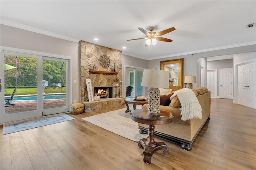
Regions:
<instances>
[{"instance_id":1,"label":"white crown molding above the patio doors, left of the fireplace","mask_svg":"<svg viewBox=\"0 0 256 170\"><path fill-rule=\"evenodd\" d=\"M60 38L60 39L68 40L68 41L71 41L71 42L79 42L80 41L80 40L75 39L75 38L71 38L71 37L68 37L68 36L63 36L63 35L60 35L60 34L56 34L56 33L53 33L53 32L41 30L41 29L38 29L38 28L30 27L30 26L25 26L23 24L19 24L19 23L16 23L16 22L11 22L11 21L8 21L8 20L0 19L0 23L3 24L3 25L6 25L6 26L20 28L22 30L36 32L36 33L39 33L39 34L44 34L46 36Z\"/></svg>"}]
</instances>

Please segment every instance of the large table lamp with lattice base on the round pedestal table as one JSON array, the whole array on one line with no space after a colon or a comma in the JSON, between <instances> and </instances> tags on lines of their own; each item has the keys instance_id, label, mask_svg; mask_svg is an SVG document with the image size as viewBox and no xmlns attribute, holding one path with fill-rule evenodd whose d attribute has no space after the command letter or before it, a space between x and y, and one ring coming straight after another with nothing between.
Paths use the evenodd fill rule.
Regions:
<instances>
[{"instance_id":1,"label":"large table lamp with lattice base on the round pedestal table","mask_svg":"<svg viewBox=\"0 0 256 170\"><path fill-rule=\"evenodd\" d=\"M148 113L159 115L160 91L158 88L169 88L169 72L157 69L145 69L143 70L141 85L150 88L148 90Z\"/></svg>"}]
</instances>

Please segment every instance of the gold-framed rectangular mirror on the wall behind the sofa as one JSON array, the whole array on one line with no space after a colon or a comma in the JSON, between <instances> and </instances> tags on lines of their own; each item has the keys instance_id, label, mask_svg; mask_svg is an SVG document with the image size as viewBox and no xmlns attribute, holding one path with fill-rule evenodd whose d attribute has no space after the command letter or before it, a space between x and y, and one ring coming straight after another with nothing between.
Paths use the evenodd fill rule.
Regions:
<instances>
[{"instance_id":1,"label":"gold-framed rectangular mirror on the wall behind the sofa","mask_svg":"<svg viewBox=\"0 0 256 170\"><path fill-rule=\"evenodd\" d=\"M183 58L160 61L160 69L169 72L169 87L183 88Z\"/></svg>"}]
</instances>

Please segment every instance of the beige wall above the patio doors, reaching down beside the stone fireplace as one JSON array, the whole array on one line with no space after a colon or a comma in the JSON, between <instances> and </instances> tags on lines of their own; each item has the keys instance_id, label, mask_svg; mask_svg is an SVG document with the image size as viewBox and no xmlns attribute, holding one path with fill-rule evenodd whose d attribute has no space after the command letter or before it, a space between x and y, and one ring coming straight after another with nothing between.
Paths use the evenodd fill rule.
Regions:
<instances>
[{"instance_id":1,"label":"beige wall above the patio doors, reaching down beside the stone fireplace","mask_svg":"<svg viewBox=\"0 0 256 170\"><path fill-rule=\"evenodd\" d=\"M35 32L0 24L1 46L64 55L72 58L72 100L80 100L80 64L78 63L78 42L71 42ZM77 81L74 84L74 79Z\"/></svg>"}]
</instances>

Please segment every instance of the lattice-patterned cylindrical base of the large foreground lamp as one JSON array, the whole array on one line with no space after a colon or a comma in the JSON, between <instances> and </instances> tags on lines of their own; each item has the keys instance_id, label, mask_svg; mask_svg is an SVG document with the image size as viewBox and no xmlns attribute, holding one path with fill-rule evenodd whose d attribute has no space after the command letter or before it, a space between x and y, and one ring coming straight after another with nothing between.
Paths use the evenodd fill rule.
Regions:
<instances>
[{"instance_id":1,"label":"lattice-patterned cylindrical base of the large foreground lamp","mask_svg":"<svg viewBox=\"0 0 256 170\"><path fill-rule=\"evenodd\" d=\"M148 113L150 115L159 115L160 113L160 90L151 87L148 90Z\"/></svg>"}]
</instances>

